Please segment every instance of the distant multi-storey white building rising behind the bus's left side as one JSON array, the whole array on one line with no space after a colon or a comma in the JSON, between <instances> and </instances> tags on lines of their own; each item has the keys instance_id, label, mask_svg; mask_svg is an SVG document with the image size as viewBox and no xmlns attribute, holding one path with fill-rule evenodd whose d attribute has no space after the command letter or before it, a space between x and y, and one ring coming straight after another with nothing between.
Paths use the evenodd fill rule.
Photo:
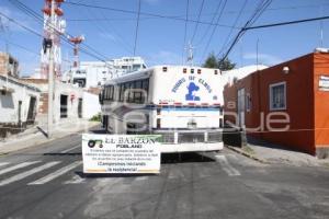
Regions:
<instances>
[{"instance_id":1,"label":"distant multi-storey white building rising behind the bus's left side","mask_svg":"<svg viewBox=\"0 0 329 219\"><path fill-rule=\"evenodd\" d=\"M82 88L95 88L102 85L114 76L145 69L146 65L140 57L122 57L110 61L81 61L79 69L67 71L63 81L77 83Z\"/></svg>"}]
</instances>

